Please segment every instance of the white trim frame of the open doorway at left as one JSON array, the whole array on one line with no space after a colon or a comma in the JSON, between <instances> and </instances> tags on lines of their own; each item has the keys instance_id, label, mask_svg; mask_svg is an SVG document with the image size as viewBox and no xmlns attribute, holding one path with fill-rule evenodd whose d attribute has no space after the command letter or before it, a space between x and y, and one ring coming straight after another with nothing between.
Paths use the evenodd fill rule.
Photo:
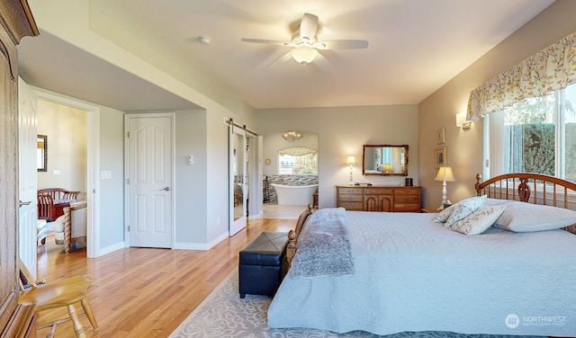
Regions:
<instances>
[{"instance_id":1,"label":"white trim frame of the open doorway at left","mask_svg":"<svg viewBox=\"0 0 576 338\"><path fill-rule=\"evenodd\" d=\"M100 243L100 108L76 99L49 93L30 85L37 99L86 111L86 257L102 255Z\"/></svg>"}]
</instances>

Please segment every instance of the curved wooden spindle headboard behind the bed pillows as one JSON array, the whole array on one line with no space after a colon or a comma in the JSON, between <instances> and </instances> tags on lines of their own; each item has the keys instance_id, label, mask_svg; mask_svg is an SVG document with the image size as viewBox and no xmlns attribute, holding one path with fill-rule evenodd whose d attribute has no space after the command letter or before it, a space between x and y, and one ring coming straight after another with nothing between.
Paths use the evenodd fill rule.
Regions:
<instances>
[{"instance_id":1,"label":"curved wooden spindle headboard behind the bed pillows","mask_svg":"<svg viewBox=\"0 0 576 338\"><path fill-rule=\"evenodd\" d=\"M476 195L521 200L576 210L576 183L540 173L505 173L482 182L476 174Z\"/></svg>"}]
</instances>

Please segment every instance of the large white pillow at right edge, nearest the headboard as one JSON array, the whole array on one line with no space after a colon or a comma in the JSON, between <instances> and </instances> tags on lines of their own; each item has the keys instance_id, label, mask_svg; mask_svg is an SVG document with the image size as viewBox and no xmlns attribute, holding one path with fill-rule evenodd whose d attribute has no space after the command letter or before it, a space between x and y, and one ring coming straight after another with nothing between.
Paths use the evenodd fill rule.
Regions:
<instances>
[{"instance_id":1,"label":"large white pillow at right edge, nearest the headboard","mask_svg":"<svg viewBox=\"0 0 576 338\"><path fill-rule=\"evenodd\" d=\"M496 220L494 227L514 231L532 232L560 229L576 223L576 211L528 202L512 201Z\"/></svg>"}]
</instances>

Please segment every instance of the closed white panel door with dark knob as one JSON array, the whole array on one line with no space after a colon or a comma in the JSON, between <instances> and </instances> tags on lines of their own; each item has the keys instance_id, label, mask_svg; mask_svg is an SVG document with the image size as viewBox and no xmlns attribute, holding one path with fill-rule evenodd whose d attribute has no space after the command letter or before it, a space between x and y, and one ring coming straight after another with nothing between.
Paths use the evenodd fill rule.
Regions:
<instances>
[{"instance_id":1,"label":"closed white panel door with dark knob","mask_svg":"<svg viewBox=\"0 0 576 338\"><path fill-rule=\"evenodd\" d=\"M129 114L130 246L173 246L173 114Z\"/></svg>"}]
</instances>

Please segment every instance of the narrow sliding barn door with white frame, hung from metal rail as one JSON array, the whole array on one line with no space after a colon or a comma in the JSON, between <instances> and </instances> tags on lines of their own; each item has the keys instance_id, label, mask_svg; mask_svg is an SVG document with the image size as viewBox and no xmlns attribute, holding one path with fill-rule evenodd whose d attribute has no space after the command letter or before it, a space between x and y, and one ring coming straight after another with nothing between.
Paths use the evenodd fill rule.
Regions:
<instances>
[{"instance_id":1,"label":"narrow sliding barn door with white frame, hung from metal rail","mask_svg":"<svg viewBox=\"0 0 576 338\"><path fill-rule=\"evenodd\" d=\"M229 128L229 236L233 236L247 224L247 142L244 129Z\"/></svg>"}]
</instances>

